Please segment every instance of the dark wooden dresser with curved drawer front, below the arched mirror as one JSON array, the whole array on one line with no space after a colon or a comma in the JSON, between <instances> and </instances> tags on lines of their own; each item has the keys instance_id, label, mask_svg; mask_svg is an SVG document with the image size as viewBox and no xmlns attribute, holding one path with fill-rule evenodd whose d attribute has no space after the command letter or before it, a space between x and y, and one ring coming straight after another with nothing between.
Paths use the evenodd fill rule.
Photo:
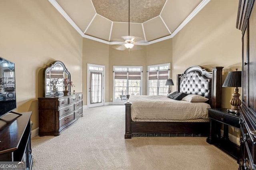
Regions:
<instances>
[{"instance_id":1,"label":"dark wooden dresser with curved drawer front, below the arched mirror","mask_svg":"<svg viewBox=\"0 0 256 170\"><path fill-rule=\"evenodd\" d=\"M38 98L39 136L60 133L83 115L82 93Z\"/></svg>"}]
</instances>

